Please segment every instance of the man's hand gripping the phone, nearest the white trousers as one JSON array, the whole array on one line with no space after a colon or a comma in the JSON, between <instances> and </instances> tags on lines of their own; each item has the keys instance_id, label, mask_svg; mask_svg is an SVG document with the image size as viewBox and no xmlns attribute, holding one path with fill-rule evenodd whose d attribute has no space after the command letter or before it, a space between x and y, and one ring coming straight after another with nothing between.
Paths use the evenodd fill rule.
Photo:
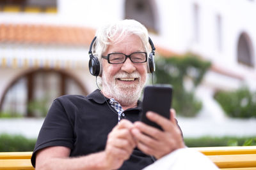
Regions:
<instances>
[{"instance_id":1,"label":"man's hand gripping the phone, nearest the white trousers","mask_svg":"<svg viewBox=\"0 0 256 170\"><path fill-rule=\"evenodd\" d=\"M147 112L147 118L160 125L163 131L143 122L135 122L131 132L142 152L160 159L178 148L185 147L181 131L175 120L175 110L170 110L170 120L152 111Z\"/></svg>"}]
</instances>

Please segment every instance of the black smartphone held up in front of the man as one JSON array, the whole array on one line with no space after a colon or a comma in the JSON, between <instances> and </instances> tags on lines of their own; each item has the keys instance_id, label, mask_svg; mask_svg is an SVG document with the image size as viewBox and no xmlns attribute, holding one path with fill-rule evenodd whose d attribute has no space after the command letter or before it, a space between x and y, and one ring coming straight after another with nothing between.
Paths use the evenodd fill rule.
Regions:
<instances>
[{"instance_id":1,"label":"black smartphone held up in front of the man","mask_svg":"<svg viewBox=\"0 0 256 170\"><path fill-rule=\"evenodd\" d=\"M148 120L147 111L154 111L159 115L170 119L170 108L172 106L172 86L154 85L144 89L141 122L163 130L158 124Z\"/></svg>"}]
</instances>

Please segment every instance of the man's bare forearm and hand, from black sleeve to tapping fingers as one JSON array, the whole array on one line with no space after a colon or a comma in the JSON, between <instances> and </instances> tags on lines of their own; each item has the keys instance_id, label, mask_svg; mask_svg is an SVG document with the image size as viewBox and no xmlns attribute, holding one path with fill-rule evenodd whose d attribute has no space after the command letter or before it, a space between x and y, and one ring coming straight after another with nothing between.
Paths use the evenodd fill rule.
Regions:
<instances>
[{"instance_id":1,"label":"man's bare forearm and hand, from black sleeve to tapping fingers","mask_svg":"<svg viewBox=\"0 0 256 170\"><path fill-rule=\"evenodd\" d=\"M102 152L83 157L70 158L70 148L51 146L36 153L36 169L118 169L129 159L136 146L129 120L121 120L108 135L106 148Z\"/></svg>"}]
</instances>

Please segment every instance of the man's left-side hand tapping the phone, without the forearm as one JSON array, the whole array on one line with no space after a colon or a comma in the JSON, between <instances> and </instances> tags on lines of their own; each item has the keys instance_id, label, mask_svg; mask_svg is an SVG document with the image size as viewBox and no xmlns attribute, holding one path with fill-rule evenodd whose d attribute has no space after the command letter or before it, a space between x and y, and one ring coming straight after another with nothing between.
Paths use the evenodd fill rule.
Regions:
<instances>
[{"instance_id":1,"label":"man's left-side hand tapping the phone, without the forearm","mask_svg":"<svg viewBox=\"0 0 256 170\"><path fill-rule=\"evenodd\" d=\"M108 134L108 141L104 153L105 163L109 169L118 169L122 166L124 160L129 159L136 146L131 134L132 127L134 125L129 120L121 120Z\"/></svg>"}]
</instances>

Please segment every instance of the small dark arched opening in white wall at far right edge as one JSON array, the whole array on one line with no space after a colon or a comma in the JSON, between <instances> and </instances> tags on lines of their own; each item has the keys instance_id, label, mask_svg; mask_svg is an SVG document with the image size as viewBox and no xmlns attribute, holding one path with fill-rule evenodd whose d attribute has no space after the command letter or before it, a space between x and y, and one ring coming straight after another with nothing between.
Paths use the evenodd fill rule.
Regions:
<instances>
[{"instance_id":1,"label":"small dark arched opening in white wall at far right edge","mask_svg":"<svg viewBox=\"0 0 256 170\"><path fill-rule=\"evenodd\" d=\"M254 67L252 41L248 34L243 32L237 43L237 61L246 66Z\"/></svg>"}]
</instances>

